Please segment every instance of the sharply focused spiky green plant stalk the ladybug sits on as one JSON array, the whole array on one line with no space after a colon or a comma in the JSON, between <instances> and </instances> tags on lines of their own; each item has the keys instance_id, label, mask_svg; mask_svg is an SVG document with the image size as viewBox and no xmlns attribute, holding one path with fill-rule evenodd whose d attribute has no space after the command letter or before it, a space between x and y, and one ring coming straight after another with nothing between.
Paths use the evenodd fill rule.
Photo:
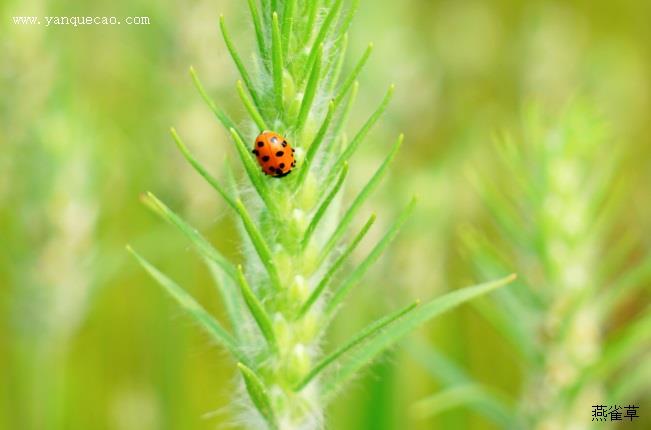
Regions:
<instances>
[{"instance_id":1,"label":"sharply focused spiky green plant stalk the ladybug sits on","mask_svg":"<svg viewBox=\"0 0 651 430\"><path fill-rule=\"evenodd\" d=\"M343 0L260 4L249 0L258 48L255 60L260 64L252 73L238 54L224 17L220 18L224 42L241 75L237 93L250 123L260 130L271 127L296 149L295 172L285 178L271 178L261 172L245 144L254 141L255 135L236 127L190 69L201 97L230 132L255 194L243 193L246 185L235 192L228 190L197 161L174 129L172 137L190 165L237 215L244 241L241 266L236 269L153 194L144 198L150 208L185 234L223 284L219 291L235 335L226 332L177 284L134 255L240 362L249 404L269 428L322 427L327 400L382 351L428 320L511 280L454 291L422 306L406 306L371 323L333 352L321 352L319 345L335 310L397 236L415 206L414 199L359 266L338 278L375 215L350 242L344 238L362 205L388 174L403 141L401 135L392 148L387 148L384 162L340 214L336 207L351 157L385 112L394 90L393 86L389 88L379 107L348 142L343 130L358 91L356 79L372 47L349 76L339 77L346 32L357 5L357 1L347 4ZM326 294L328 290L333 294ZM256 326L257 330L250 329ZM322 375L333 368L339 371L322 381ZM256 427L253 421L247 423Z\"/></svg>"}]
</instances>

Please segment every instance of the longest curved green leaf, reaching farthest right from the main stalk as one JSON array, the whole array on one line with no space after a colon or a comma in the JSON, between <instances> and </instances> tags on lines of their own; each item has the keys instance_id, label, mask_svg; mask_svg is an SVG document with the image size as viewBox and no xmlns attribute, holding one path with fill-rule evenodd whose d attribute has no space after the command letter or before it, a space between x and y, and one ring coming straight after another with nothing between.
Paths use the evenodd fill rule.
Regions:
<instances>
[{"instance_id":1,"label":"longest curved green leaf, reaching farthest right from the main stalk","mask_svg":"<svg viewBox=\"0 0 651 430\"><path fill-rule=\"evenodd\" d=\"M342 364L338 371L326 380L325 386L323 387L324 398L326 400L331 398L359 370L371 363L381 352L395 345L412 330L432 318L454 309L469 300L487 294L496 288L502 287L514 279L515 275L510 275L497 281L463 288L436 298L419 307L396 324L387 328L383 333L367 342L364 348L360 348L355 351L355 354L351 354L347 362Z\"/></svg>"}]
</instances>

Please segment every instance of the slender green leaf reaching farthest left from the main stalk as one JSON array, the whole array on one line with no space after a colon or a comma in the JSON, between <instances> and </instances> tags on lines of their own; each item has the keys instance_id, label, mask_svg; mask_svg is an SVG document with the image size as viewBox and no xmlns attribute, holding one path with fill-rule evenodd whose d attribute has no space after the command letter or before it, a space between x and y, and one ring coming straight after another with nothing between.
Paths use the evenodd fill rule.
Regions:
<instances>
[{"instance_id":1,"label":"slender green leaf reaching farthest left from the main stalk","mask_svg":"<svg viewBox=\"0 0 651 430\"><path fill-rule=\"evenodd\" d=\"M130 246L127 251L133 255L138 263L151 275L156 282L186 311L204 330L208 332L218 343L224 346L238 360L246 362L247 359L239 351L238 345L233 337L208 313L190 294L161 273L151 263L141 257Z\"/></svg>"}]
</instances>

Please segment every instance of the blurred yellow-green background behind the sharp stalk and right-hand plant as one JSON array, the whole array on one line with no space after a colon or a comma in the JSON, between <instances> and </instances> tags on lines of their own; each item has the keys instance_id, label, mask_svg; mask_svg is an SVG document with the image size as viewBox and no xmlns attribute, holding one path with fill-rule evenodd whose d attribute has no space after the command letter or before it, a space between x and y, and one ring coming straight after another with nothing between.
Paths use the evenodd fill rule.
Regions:
<instances>
[{"instance_id":1,"label":"blurred yellow-green background behind the sharp stalk and right-hand plant","mask_svg":"<svg viewBox=\"0 0 651 430\"><path fill-rule=\"evenodd\" d=\"M0 428L189 430L231 422L234 366L124 250L133 244L222 314L188 243L139 202L155 191L238 258L230 213L168 135L176 126L215 172L231 153L187 72L194 65L214 98L245 118L220 13L240 50L252 49L238 0L0 3ZM16 15L149 16L151 25L45 28L14 25ZM362 2L350 52L369 41L376 49L351 123L363 120L388 83L397 84L397 96L356 156L350 186L405 132L393 174L367 206L387 220L405 200L396 195L417 193L421 203L355 293L355 312L337 322L332 342L397 298L429 299L480 280L459 230L481 228L490 216L468 172L479 165L503 174L494 167L492 136L517 128L531 102L554 111L580 94L601 112L609 145L626 154L628 185L618 188L622 210L613 223L632 229L639 252L651 250L649 16L651 3L637 0ZM645 282L618 324L648 303ZM410 342L437 345L496 390L515 394L523 383L508 343L471 307ZM387 354L342 393L330 428L496 428L465 408L429 418L410 413L439 385L409 351ZM622 399L641 406L637 428L651 426L649 395Z\"/></svg>"}]
</instances>

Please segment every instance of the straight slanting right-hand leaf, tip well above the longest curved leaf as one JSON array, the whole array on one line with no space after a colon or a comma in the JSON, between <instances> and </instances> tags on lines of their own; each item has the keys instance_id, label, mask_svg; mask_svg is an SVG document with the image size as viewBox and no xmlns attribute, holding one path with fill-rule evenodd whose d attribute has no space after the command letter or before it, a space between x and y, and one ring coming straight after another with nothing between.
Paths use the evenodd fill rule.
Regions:
<instances>
[{"instance_id":1,"label":"straight slanting right-hand leaf, tip well above the longest curved leaf","mask_svg":"<svg viewBox=\"0 0 651 430\"><path fill-rule=\"evenodd\" d=\"M332 298L328 302L325 308L326 315L332 315L337 307L343 302L344 298L348 294L351 288L359 283L359 281L364 277L368 269L377 261L378 258L382 255L387 246L395 239L398 235L398 232L407 221L407 218L411 215L414 207L416 206L416 199L412 199L411 202L407 205L405 209L400 213L398 219L389 227L389 230L384 234L382 239L373 247L371 252L366 256L366 258L355 268L355 270L348 275L348 277L342 282L341 286L335 291Z\"/></svg>"}]
</instances>

